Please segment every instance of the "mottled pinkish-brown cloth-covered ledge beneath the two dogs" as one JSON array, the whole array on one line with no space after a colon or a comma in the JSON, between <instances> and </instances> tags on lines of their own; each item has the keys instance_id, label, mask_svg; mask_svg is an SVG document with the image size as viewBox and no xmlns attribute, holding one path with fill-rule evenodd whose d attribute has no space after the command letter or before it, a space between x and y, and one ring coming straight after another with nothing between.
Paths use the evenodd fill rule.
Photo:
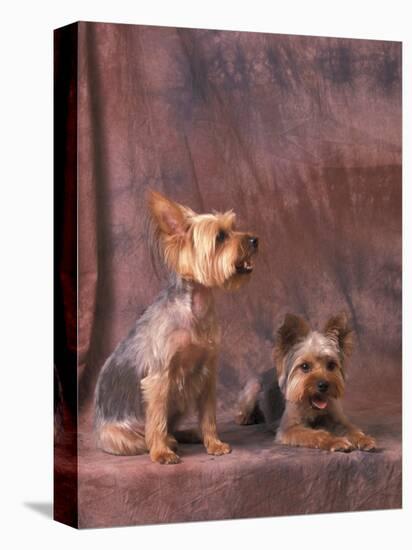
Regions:
<instances>
[{"instance_id":1,"label":"mottled pinkish-brown cloth-covered ledge beneath the two dogs","mask_svg":"<svg viewBox=\"0 0 412 550\"><path fill-rule=\"evenodd\" d=\"M230 455L212 457L202 445L180 445L182 463L159 466L148 455L101 453L85 434L79 447L79 526L400 508L399 409L351 417L378 439L378 451L291 448L275 444L263 425L226 422L220 433L233 447ZM68 474L62 471L62 480Z\"/></svg>"}]
</instances>

